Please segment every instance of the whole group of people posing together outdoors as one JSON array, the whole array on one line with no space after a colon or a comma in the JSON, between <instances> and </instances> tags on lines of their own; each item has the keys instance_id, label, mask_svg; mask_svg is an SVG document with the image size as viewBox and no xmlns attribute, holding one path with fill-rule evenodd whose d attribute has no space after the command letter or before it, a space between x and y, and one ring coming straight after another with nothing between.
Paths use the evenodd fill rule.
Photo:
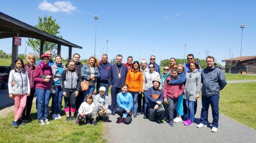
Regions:
<instances>
[{"instance_id":1,"label":"whole group of people posing together outdoors","mask_svg":"<svg viewBox=\"0 0 256 143\"><path fill-rule=\"evenodd\" d=\"M108 62L106 54L102 55L100 61L92 56L84 65L79 59L80 55L75 53L72 61L63 65L60 55L56 55L53 62L51 51L46 51L37 64L32 53L27 55L25 65L19 58L14 62L8 82L9 97L15 101L14 127L31 121L29 115L35 94L40 125L50 124L47 118L50 98L52 119L61 119L64 97L67 122L91 124L93 117L93 125L97 125L97 116L104 120L104 117L117 113L119 123L130 124L132 117L137 118L141 114L144 119L159 124L166 120L171 127L174 122L182 122L184 117L186 120L183 124L190 126L194 125L197 99L202 91L201 123L197 127L206 127L210 104L214 118L211 131L217 132L219 91L225 87L226 81L214 57L206 58L207 68L203 70L194 61L193 54L187 55L188 63L185 65L176 65L175 58L171 58L170 65L164 67L162 74L155 63L155 55L148 63L145 59L140 63L133 62L132 56L129 56L127 63L123 64L123 57L118 54L113 65ZM80 84L84 81L89 82L87 91L80 90ZM93 98L95 89L97 95Z\"/></svg>"}]
</instances>

